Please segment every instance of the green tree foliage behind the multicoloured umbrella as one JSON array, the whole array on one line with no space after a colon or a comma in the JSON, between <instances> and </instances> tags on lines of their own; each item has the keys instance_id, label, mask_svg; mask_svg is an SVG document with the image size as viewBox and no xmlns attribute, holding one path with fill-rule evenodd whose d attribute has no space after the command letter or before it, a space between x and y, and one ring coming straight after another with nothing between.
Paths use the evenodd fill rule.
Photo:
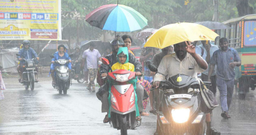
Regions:
<instances>
[{"instance_id":1,"label":"green tree foliage behind the multicoloured umbrella","mask_svg":"<svg viewBox=\"0 0 256 135\"><path fill-rule=\"evenodd\" d=\"M255 0L248 0L248 3L256 13ZM75 10L80 13L78 35L84 40L92 40L100 37L103 32L84 22L85 15L102 5L117 4L117 0L62 0L61 4L62 11ZM148 19L148 26L145 28L158 29L176 22L212 21L214 15L213 0L119 0L119 4L132 7L145 16ZM220 22L238 17L236 0L218 0L218 13ZM67 39L68 35L76 38L75 19L62 18L62 27L64 27L63 39ZM114 34L114 32L108 33Z\"/></svg>"}]
</instances>

